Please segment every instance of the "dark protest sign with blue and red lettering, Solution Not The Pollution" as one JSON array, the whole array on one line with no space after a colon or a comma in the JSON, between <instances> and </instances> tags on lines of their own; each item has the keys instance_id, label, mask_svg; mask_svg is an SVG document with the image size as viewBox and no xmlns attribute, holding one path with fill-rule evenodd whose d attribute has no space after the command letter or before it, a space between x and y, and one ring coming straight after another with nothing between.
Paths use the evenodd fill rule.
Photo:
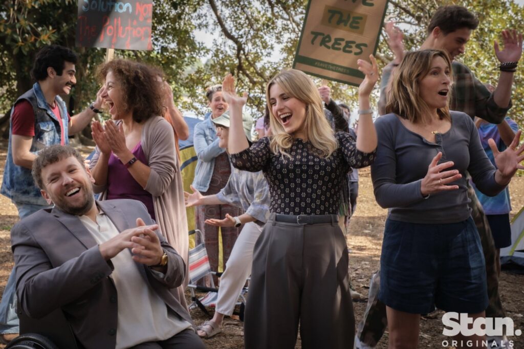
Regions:
<instances>
[{"instance_id":1,"label":"dark protest sign with blue and red lettering, Solution Not The Pollution","mask_svg":"<svg viewBox=\"0 0 524 349\"><path fill-rule=\"evenodd\" d=\"M152 50L152 0L78 0L77 46Z\"/></svg>"}]
</instances>

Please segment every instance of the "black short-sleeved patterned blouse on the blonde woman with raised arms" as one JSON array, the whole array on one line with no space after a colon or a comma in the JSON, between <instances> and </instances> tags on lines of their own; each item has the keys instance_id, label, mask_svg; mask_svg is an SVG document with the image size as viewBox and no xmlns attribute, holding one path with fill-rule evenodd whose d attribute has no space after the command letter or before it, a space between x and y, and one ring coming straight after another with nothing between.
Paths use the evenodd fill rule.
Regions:
<instances>
[{"instance_id":1,"label":"black short-sleeved patterned blouse on the blonde woman with raised arms","mask_svg":"<svg viewBox=\"0 0 524 349\"><path fill-rule=\"evenodd\" d=\"M269 183L270 211L279 214L338 214L344 176L350 167L362 168L375 160L376 151L357 150L356 139L337 132L339 148L328 158L315 154L309 141L296 139L288 150L291 159L273 154L269 138L231 154L233 166L251 172L263 171Z\"/></svg>"}]
</instances>

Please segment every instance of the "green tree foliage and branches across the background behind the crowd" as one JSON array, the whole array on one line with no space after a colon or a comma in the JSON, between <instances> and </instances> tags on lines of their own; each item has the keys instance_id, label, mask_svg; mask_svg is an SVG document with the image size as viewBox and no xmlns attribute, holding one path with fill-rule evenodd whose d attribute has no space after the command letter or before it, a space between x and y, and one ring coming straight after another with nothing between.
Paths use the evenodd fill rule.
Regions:
<instances>
[{"instance_id":1,"label":"green tree foliage and branches across the background behind the crowd","mask_svg":"<svg viewBox=\"0 0 524 349\"><path fill-rule=\"evenodd\" d=\"M423 42L435 9L450 1L390 1L387 16L405 31L406 49L417 49ZM514 0L457 0L475 12L481 25L459 57L471 67L479 80L496 84L498 61L493 41L500 40L505 28L524 32L524 10ZM238 89L249 92L248 105L254 117L263 115L265 85L284 68L292 65L307 0L171 0L154 1L152 21L153 51L116 50L116 57L132 58L161 67L171 83L177 105L196 115L205 112L206 87L220 83L233 73ZM0 111L30 85L29 70L42 45L59 43L73 47L77 2L72 0L17 0L0 3ZM196 40L195 30L216 39L211 48ZM392 59L384 35L377 58L380 66ZM81 54L77 66L78 85L74 97L79 108L93 100L100 84L96 67L104 60L104 49L76 48ZM201 58L206 57L205 61ZM522 63L521 63L522 65ZM524 75L515 74L513 107L509 115L524 125ZM320 84L320 79L315 81ZM335 100L357 107L357 89L330 82ZM378 93L375 92L375 97Z\"/></svg>"}]
</instances>

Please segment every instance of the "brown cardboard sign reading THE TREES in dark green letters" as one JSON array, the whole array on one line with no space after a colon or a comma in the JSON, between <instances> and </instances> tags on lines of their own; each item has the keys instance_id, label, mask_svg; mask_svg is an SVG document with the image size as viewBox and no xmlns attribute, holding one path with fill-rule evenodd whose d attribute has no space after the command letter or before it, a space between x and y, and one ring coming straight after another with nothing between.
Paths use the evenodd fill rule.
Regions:
<instances>
[{"instance_id":1,"label":"brown cardboard sign reading THE TREES in dark green letters","mask_svg":"<svg viewBox=\"0 0 524 349\"><path fill-rule=\"evenodd\" d=\"M375 54L387 0L309 0L293 68L358 86L357 60Z\"/></svg>"}]
</instances>

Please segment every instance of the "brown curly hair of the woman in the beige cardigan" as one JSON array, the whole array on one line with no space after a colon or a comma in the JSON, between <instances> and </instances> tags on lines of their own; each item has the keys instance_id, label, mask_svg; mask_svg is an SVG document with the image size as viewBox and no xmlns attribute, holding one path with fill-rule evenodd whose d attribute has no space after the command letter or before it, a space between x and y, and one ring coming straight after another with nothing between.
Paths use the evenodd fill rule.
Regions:
<instances>
[{"instance_id":1,"label":"brown curly hair of the woman in the beige cardigan","mask_svg":"<svg viewBox=\"0 0 524 349\"><path fill-rule=\"evenodd\" d=\"M99 67L99 80L104 81L109 71L113 72L122 87L124 111L131 112L135 122L163 115L159 69L127 59L115 59Z\"/></svg>"}]
</instances>

